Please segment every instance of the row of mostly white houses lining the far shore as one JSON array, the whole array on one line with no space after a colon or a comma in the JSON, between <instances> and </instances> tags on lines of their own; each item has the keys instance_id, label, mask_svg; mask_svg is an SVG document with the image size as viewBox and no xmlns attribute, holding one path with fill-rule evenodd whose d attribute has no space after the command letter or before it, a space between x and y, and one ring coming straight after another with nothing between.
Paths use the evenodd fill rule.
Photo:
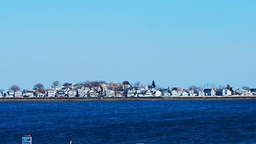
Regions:
<instances>
[{"instance_id":1,"label":"row of mostly white houses lining the far shore","mask_svg":"<svg viewBox=\"0 0 256 144\"><path fill-rule=\"evenodd\" d=\"M55 86L47 90L2 90L0 97L4 98L23 98L23 97L38 97L38 98L96 98L96 97L195 97L195 96L230 96L230 95L256 95L256 89L238 89L233 88L205 88L202 90L187 90L187 89L156 89L152 86L140 85L131 87L120 85L119 90L108 88L108 84L101 84L98 87L83 87L70 84L68 86Z\"/></svg>"}]
</instances>

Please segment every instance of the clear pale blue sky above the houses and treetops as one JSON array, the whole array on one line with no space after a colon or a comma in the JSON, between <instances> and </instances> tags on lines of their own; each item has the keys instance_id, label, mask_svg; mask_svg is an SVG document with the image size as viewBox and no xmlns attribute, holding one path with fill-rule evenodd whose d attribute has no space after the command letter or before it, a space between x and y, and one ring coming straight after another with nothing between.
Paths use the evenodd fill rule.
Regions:
<instances>
[{"instance_id":1,"label":"clear pale blue sky above the houses and treetops","mask_svg":"<svg viewBox=\"0 0 256 144\"><path fill-rule=\"evenodd\" d=\"M256 87L256 1L0 1L0 88Z\"/></svg>"}]
</instances>

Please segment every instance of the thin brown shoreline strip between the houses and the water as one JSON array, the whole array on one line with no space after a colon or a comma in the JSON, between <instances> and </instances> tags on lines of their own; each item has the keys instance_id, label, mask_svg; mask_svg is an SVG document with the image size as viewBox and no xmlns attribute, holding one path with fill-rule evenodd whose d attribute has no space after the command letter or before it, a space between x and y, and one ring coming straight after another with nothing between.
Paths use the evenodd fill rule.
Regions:
<instances>
[{"instance_id":1,"label":"thin brown shoreline strip between the houses and the water","mask_svg":"<svg viewBox=\"0 0 256 144\"><path fill-rule=\"evenodd\" d=\"M256 96L152 97L152 98L0 98L8 102L108 102L108 101L189 101L189 100L256 100Z\"/></svg>"}]
</instances>

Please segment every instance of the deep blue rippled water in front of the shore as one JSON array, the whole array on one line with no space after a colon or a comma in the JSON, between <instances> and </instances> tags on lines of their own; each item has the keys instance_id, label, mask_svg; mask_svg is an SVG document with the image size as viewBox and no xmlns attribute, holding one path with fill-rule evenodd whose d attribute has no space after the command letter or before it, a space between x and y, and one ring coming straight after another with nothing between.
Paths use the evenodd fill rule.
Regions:
<instances>
[{"instance_id":1,"label":"deep blue rippled water in front of the shore","mask_svg":"<svg viewBox=\"0 0 256 144\"><path fill-rule=\"evenodd\" d=\"M256 101L0 103L0 143L256 143Z\"/></svg>"}]
</instances>

